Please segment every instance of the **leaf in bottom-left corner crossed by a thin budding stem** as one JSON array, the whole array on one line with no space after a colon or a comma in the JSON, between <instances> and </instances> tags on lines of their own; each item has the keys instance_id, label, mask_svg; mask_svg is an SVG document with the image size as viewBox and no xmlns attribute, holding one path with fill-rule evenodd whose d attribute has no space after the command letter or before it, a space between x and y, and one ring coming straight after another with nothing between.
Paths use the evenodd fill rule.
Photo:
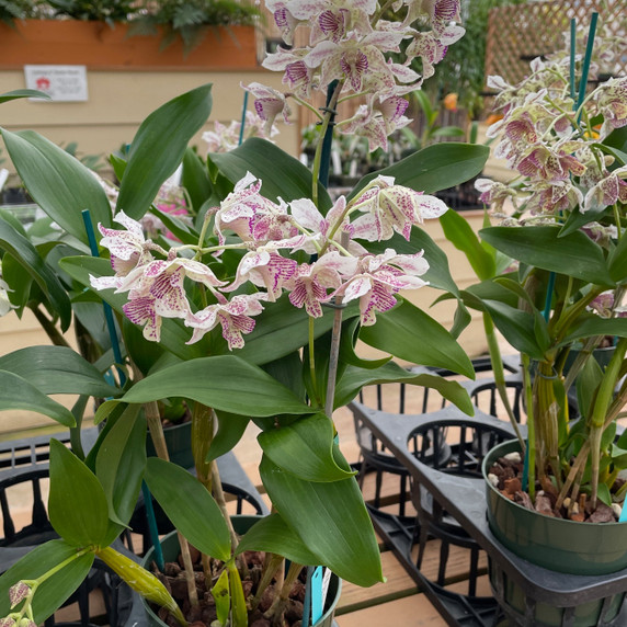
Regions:
<instances>
[{"instance_id":1,"label":"leaf in bottom-left corner crossed by a thin budding stem","mask_svg":"<svg viewBox=\"0 0 627 627\"><path fill-rule=\"evenodd\" d=\"M11 612L9 589L19 581L37 579L77 555L77 548L64 540L49 540L24 556L0 577L0 615ZM41 625L70 597L89 574L93 552L70 561L39 585L33 600L33 619Z\"/></svg>"}]
</instances>

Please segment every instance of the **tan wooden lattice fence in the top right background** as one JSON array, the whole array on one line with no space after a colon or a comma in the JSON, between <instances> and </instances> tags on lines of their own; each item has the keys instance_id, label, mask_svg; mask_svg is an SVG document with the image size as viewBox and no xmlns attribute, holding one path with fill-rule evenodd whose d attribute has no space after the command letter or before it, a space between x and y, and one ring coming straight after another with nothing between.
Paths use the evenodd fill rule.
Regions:
<instances>
[{"instance_id":1,"label":"tan wooden lattice fence in the top right background","mask_svg":"<svg viewBox=\"0 0 627 627\"><path fill-rule=\"evenodd\" d=\"M521 81L529 61L565 46L565 33L574 18L588 29L593 11L598 11L600 29L626 37L627 0L559 0L499 7L490 11L486 76L498 75L510 83ZM583 54L584 50L578 50ZM615 76L627 73L627 55L615 59Z\"/></svg>"}]
</instances>

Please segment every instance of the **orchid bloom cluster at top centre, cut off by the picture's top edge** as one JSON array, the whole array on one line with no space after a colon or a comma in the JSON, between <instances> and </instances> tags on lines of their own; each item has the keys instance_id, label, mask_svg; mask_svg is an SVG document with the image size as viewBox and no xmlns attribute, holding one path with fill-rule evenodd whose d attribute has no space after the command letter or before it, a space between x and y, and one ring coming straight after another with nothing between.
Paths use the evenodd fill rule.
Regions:
<instances>
[{"instance_id":1,"label":"orchid bloom cluster at top centre, cut off by the picture's top edge","mask_svg":"<svg viewBox=\"0 0 627 627\"><path fill-rule=\"evenodd\" d=\"M388 136L410 122L404 116L408 101L403 95L433 75L434 65L465 32L456 24L459 0L397 0L391 5L395 11L404 10L398 22L385 20L376 0L266 2L289 48L280 47L263 66L283 71L288 91L282 93L258 82L243 87L254 95L267 134L278 115L289 121L289 101L309 106L304 99L312 90L326 90L338 81L332 107L357 95L365 95L366 103L352 117L338 122L335 128L367 137L371 151L379 147L387 150ZM420 31L415 27L419 23ZM299 26L310 26L309 42L293 47ZM408 41L404 61L386 60L386 53L401 53L403 41ZM422 76L409 67L417 58L422 62Z\"/></svg>"}]
</instances>

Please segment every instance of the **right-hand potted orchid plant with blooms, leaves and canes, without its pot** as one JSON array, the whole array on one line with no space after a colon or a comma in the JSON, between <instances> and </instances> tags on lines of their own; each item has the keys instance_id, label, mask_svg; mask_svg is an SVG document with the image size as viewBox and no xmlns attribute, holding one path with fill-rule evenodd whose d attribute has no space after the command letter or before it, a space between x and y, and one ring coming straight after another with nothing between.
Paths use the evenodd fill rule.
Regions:
<instances>
[{"instance_id":1,"label":"right-hand potted orchid plant with blooms, leaves and canes, without its pot","mask_svg":"<svg viewBox=\"0 0 627 627\"><path fill-rule=\"evenodd\" d=\"M488 137L499 139L495 155L513 178L477 181L500 226L480 231L481 247L467 248L483 282L466 303L522 354L528 437L521 444L528 445L531 501L521 502L533 508L539 489L555 491L554 514L566 503L572 520L603 510L591 520L605 521L618 517L625 495L618 472L627 440L615 435L627 402L627 79L586 90L585 73L596 78L596 59L612 66L625 39L600 36L586 58L575 49L573 42L535 59L518 84L488 79L502 113ZM454 218L447 217L449 235L461 246L464 225ZM608 337L616 347L603 371L588 357ZM581 354L567 372L577 346ZM578 421L569 415L575 380Z\"/></svg>"}]
</instances>

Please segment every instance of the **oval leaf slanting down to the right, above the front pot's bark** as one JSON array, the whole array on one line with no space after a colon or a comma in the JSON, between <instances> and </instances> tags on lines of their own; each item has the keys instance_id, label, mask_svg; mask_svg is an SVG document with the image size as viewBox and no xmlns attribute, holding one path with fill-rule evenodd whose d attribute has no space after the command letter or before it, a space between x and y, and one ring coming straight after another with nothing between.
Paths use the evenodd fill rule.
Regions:
<instances>
[{"instance_id":1,"label":"oval leaf slanting down to the right, above the front pot's bark","mask_svg":"<svg viewBox=\"0 0 627 627\"><path fill-rule=\"evenodd\" d=\"M200 551L227 561L230 535L220 509L207 489L187 470L149 457L146 483L167 516Z\"/></svg>"}]
</instances>

